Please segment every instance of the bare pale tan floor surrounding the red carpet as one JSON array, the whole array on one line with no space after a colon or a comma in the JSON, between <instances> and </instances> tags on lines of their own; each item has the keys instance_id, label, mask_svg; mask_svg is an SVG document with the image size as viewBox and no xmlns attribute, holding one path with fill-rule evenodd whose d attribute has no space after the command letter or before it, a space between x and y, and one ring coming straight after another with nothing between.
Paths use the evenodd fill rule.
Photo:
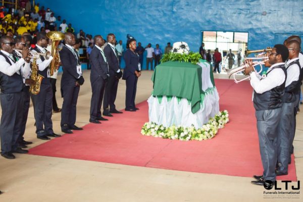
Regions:
<instances>
[{"instance_id":1,"label":"bare pale tan floor surrounding the red carpet","mask_svg":"<svg viewBox=\"0 0 303 202\"><path fill-rule=\"evenodd\" d=\"M146 100L153 83L151 71L138 80L136 103ZM89 120L91 87L84 71L77 105L77 126ZM215 78L227 78L215 74ZM57 86L60 86L61 75ZM240 85L240 84L238 84ZM57 92L57 102L62 98ZM125 107L125 81L119 83L116 105ZM303 179L303 108L297 116L294 141L298 180ZM25 139L34 147L37 139L33 109L30 108ZM61 133L60 114L53 115L55 133ZM102 126L102 125L101 125ZM256 134L257 135L257 134ZM258 173L256 173L258 174ZM18 155L15 160L0 157L0 201L303 201L298 198L265 198L263 186L250 184L252 178L191 173L73 159ZM280 183L281 185L281 183ZM296 185L296 184L295 184ZM283 190L283 189L282 189ZM266 195L269 196L269 195ZM284 195L286 196L286 195Z\"/></svg>"}]
</instances>

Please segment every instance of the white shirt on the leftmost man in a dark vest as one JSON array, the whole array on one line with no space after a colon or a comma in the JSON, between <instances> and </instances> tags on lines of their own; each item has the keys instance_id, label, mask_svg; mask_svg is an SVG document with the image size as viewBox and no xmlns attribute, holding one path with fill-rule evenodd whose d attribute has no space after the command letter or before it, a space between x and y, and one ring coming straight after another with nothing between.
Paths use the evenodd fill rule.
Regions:
<instances>
[{"instance_id":1,"label":"white shirt on the leftmost man in a dark vest","mask_svg":"<svg viewBox=\"0 0 303 202\"><path fill-rule=\"evenodd\" d=\"M15 73L20 74L19 70L21 69L22 74L24 75L29 74L30 71L29 66L22 68L22 66L25 64L25 60L23 58L21 58L20 60L18 60L18 62L15 63L10 58L10 54L8 52L3 50L1 50L1 52L6 56L8 56L9 60L13 65L10 65L8 62L6 62L6 59L3 56L0 56L0 72L8 76L13 76Z\"/></svg>"}]
</instances>

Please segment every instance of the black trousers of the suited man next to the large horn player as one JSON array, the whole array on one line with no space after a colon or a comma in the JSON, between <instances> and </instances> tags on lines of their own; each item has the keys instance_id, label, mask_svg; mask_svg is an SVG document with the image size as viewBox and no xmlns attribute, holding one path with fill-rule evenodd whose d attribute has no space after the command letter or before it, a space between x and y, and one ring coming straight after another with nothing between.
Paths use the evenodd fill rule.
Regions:
<instances>
[{"instance_id":1,"label":"black trousers of the suited man next to the large horn player","mask_svg":"<svg viewBox=\"0 0 303 202\"><path fill-rule=\"evenodd\" d=\"M63 105L61 111L61 129L75 125L77 115L77 100L80 86L66 85L61 88Z\"/></svg>"}]
</instances>

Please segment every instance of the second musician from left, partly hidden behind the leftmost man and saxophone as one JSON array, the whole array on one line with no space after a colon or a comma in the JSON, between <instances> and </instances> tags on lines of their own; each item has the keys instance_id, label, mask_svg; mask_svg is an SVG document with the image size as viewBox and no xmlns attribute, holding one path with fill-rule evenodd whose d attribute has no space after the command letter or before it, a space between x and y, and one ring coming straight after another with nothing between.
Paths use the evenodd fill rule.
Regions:
<instances>
[{"instance_id":1,"label":"second musician from left, partly hidden behind the leftmost man and saxophone","mask_svg":"<svg viewBox=\"0 0 303 202\"><path fill-rule=\"evenodd\" d=\"M16 38L14 39L15 44L15 49L22 51L22 49L24 47L26 47L26 41L25 38L23 36L16 36ZM20 60L22 58L22 55L20 53L17 53L17 51L13 52L13 55ZM30 58L26 59L26 63L23 65L28 66L25 68L30 69ZM29 86L34 84L34 81L30 79L30 75L31 73L28 72L27 75L22 75L23 76L23 83L24 83L24 88L23 88L23 117L22 117L22 123L21 123L21 134L18 138L18 144L19 147L21 148L26 148L26 144L32 144L32 142L29 141L25 141L24 140L24 133L25 133L25 126L26 126L26 122L27 122L27 116L28 116L28 110L29 110L29 103L30 103L30 93L29 93Z\"/></svg>"}]
</instances>

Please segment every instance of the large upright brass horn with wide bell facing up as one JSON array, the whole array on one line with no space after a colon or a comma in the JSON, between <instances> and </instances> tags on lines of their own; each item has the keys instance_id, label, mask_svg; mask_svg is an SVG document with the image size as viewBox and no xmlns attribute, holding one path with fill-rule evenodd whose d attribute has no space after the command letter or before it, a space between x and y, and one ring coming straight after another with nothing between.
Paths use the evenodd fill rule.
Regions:
<instances>
[{"instance_id":1,"label":"large upright brass horn with wide bell facing up","mask_svg":"<svg viewBox=\"0 0 303 202\"><path fill-rule=\"evenodd\" d=\"M59 69L60 66L60 56L57 49L59 42L65 38L65 35L60 31L50 31L46 34L47 38L52 39L52 56L53 61L51 63L51 76L54 75L54 72Z\"/></svg>"}]
</instances>

